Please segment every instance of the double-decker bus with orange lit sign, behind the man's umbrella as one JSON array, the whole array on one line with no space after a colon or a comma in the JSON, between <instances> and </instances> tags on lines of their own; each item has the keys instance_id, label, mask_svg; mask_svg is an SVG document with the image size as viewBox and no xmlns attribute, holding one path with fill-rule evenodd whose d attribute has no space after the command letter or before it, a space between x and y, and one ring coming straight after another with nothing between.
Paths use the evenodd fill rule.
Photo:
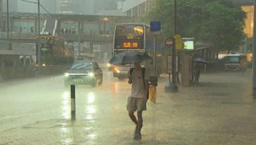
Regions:
<instances>
[{"instance_id":1,"label":"double-decker bus with orange lit sign, behind the man's umbrella","mask_svg":"<svg viewBox=\"0 0 256 145\"><path fill-rule=\"evenodd\" d=\"M163 36L157 35L156 42L156 74L159 76L163 70ZM113 55L124 51L145 52L152 58L154 56L154 35L150 33L150 27L145 24L120 24L115 27L113 41ZM154 73L152 60L144 61L141 66ZM113 65L113 76L118 79L127 78L129 69L133 64Z\"/></svg>"}]
</instances>

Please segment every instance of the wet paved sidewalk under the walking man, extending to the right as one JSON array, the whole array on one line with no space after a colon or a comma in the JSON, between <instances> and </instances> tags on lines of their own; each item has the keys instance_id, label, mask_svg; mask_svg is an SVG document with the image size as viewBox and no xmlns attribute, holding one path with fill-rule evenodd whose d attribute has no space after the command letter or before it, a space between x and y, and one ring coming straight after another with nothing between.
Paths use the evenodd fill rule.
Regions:
<instances>
[{"instance_id":1,"label":"wet paved sidewalk under the walking man, extending to the right","mask_svg":"<svg viewBox=\"0 0 256 145\"><path fill-rule=\"evenodd\" d=\"M109 118L41 121L0 132L0 144L255 144L252 71L202 74L199 86L177 93L164 92L167 80L159 78L157 102L143 112L141 141L133 140L124 100Z\"/></svg>"}]
</instances>

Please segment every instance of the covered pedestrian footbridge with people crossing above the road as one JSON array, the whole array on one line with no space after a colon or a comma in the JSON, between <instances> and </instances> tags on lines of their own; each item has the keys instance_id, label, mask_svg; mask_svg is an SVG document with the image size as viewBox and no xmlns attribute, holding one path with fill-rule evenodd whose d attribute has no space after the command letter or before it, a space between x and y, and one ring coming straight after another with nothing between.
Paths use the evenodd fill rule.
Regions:
<instances>
[{"instance_id":1,"label":"covered pedestrian footbridge with people crossing above the road","mask_svg":"<svg viewBox=\"0 0 256 145\"><path fill-rule=\"evenodd\" d=\"M102 44L113 41L115 25L140 23L140 18L97 15L41 14L41 34L61 36L69 42L92 42ZM0 22L5 24L6 13L0 12ZM31 27L34 31L31 32ZM20 31L20 28L23 31ZM36 13L10 13L10 31L7 39L6 26L0 25L0 40L19 43L35 43L37 36Z\"/></svg>"}]
</instances>

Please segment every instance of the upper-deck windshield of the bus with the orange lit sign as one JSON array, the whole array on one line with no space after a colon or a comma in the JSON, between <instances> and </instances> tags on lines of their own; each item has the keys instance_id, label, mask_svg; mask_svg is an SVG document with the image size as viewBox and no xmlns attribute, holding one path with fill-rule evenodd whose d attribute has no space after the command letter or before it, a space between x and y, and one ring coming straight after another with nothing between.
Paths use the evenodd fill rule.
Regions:
<instances>
[{"instance_id":1,"label":"upper-deck windshield of the bus with the orange lit sign","mask_svg":"<svg viewBox=\"0 0 256 145\"><path fill-rule=\"evenodd\" d=\"M119 25L116 27L116 36L143 36L141 25Z\"/></svg>"}]
</instances>

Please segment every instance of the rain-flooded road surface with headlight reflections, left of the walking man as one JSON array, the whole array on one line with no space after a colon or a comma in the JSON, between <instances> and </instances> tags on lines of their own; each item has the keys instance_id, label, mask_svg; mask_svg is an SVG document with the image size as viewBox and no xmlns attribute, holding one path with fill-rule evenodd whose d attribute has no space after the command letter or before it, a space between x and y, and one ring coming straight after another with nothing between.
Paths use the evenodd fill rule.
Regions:
<instances>
[{"instance_id":1,"label":"rain-flooded road surface with headlight reflections, left of the walking man","mask_svg":"<svg viewBox=\"0 0 256 145\"><path fill-rule=\"evenodd\" d=\"M129 94L125 80L118 81L111 71L102 69L102 86L76 87L77 118L94 120L109 114ZM64 87L63 79L60 75L0 83L0 131L36 121L70 119L70 88Z\"/></svg>"}]
</instances>

